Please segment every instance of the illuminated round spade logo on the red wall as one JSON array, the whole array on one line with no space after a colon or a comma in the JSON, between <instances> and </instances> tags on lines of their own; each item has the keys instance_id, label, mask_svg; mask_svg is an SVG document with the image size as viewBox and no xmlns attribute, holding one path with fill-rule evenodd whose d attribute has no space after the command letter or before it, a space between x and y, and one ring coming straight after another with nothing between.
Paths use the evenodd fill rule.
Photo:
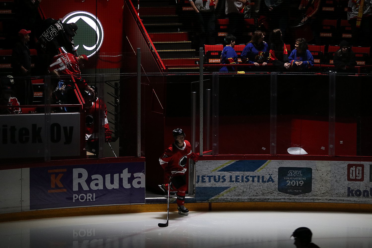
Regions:
<instances>
[{"instance_id":1,"label":"illuminated round spade logo on the red wall","mask_svg":"<svg viewBox=\"0 0 372 248\"><path fill-rule=\"evenodd\" d=\"M86 11L74 11L62 18L62 23L76 23L78 29L74 36L74 44L78 54L91 57L95 54L103 42L103 28L101 22L92 13ZM66 50L62 48L64 52Z\"/></svg>"}]
</instances>

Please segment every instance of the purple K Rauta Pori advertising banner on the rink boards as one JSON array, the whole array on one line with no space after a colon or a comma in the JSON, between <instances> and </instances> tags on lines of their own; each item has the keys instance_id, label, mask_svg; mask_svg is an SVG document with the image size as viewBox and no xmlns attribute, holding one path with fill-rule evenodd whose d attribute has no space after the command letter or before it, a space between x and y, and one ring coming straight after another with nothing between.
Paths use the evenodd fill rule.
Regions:
<instances>
[{"instance_id":1,"label":"purple K Rauta Pori advertising banner on the rink boards","mask_svg":"<svg viewBox=\"0 0 372 248\"><path fill-rule=\"evenodd\" d=\"M145 162L30 168L30 210L145 203Z\"/></svg>"}]
</instances>

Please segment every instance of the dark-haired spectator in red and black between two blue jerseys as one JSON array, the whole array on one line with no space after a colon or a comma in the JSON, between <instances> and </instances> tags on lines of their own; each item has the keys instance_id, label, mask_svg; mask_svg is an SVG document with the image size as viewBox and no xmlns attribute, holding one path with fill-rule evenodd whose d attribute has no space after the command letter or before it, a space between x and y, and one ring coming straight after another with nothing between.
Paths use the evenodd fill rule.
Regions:
<instances>
[{"instance_id":1,"label":"dark-haired spectator in red and black between two blue jerseys","mask_svg":"<svg viewBox=\"0 0 372 248\"><path fill-rule=\"evenodd\" d=\"M282 40L282 31L280 29L274 29L270 35L269 61L280 71L291 67L288 60L287 48Z\"/></svg>"}]
</instances>

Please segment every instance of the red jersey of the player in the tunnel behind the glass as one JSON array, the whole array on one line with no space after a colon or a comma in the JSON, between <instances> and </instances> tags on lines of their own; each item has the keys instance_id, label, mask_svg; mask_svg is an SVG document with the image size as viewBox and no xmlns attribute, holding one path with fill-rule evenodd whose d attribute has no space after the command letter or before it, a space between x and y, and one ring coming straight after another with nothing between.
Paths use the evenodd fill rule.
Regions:
<instances>
[{"instance_id":1,"label":"red jersey of the player in the tunnel behind the glass","mask_svg":"<svg viewBox=\"0 0 372 248\"><path fill-rule=\"evenodd\" d=\"M105 110L105 132L109 131L109 122L107 120L107 107L102 100L98 98L90 109L85 110L85 140L94 141L99 138L99 111L101 106Z\"/></svg>"}]
</instances>

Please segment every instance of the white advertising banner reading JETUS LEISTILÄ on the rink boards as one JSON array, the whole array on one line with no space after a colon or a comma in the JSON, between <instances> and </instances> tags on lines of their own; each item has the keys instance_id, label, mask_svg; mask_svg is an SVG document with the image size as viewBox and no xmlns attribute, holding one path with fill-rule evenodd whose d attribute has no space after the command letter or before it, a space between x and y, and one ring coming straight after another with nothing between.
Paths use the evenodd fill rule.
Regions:
<instances>
[{"instance_id":1,"label":"white advertising banner reading JETUS LEISTIL\u00c4 on the rink boards","mask_svg":"<svg viewBox=\"0 0 372 248\"><path fill-rule=\"evenodd\" d=\"M197 202L372 203L372 162L214 160L196 164Z\"/></svg>"}]
</instances>

